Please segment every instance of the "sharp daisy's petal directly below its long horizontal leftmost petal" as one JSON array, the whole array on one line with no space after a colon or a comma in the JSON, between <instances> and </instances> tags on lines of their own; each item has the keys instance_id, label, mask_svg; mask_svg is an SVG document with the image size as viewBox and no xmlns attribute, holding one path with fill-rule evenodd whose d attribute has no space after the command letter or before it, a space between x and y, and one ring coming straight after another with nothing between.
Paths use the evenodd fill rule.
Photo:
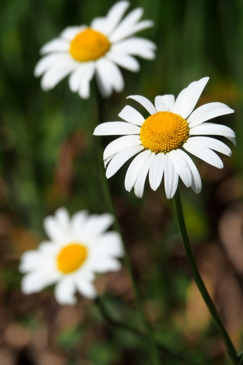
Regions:
<instances>
[{"instance_id":1,"label":"sharp daisy's petal directly below its long horizontal leftmost petal","mask_svg":"<svg viewBox=\"0 0 243 365\"><path fill-rule=\"evenodd\" d=\"M103 159L106 160L110 157L113 157L118 152L124 150L127 147L137 146L141 144L142 142L140 140L140 136L137 135L122 136L109 143L109 145L104 150Z\"/></svg>"}]
</instances>

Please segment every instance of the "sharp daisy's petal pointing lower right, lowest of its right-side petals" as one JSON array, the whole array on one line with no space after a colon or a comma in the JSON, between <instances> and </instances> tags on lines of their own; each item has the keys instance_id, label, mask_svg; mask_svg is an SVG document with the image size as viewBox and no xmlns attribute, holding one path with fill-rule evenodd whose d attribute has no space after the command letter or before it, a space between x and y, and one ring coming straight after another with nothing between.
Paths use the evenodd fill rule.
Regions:
<instances>
[{"instance_id":1,"label":"sharp daisy's petal pointing lower right, lowest of its right-side petals","mask_svg":"<svg viewBox=\"0 0 243 365\"><path fill-rule=\"evenodd\" d=\"M184 143L183 148L212 166L218 168L223 168L224 166L221 158L216 155L215 152L206 147L195 146L195 144L190 142L190 138L186 143Z\"/></svg>"}]
</instances>

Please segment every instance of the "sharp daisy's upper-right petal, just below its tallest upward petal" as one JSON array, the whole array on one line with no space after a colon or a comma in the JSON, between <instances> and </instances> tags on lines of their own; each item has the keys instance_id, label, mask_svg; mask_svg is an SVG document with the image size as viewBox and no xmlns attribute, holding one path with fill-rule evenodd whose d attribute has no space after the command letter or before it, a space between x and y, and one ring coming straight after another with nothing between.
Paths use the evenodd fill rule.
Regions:
<instances>
[{"instance_id":1,"label":"sharp daisy's upper-right petal, just below its tallest upward petal","mask_svg":"<svg viewBox=\"0 0 243 365\"><path fill-rule=\"evenodd\" d=\"M206 120L215 118L216 116L234 113L228 105L223 103L208 103L195 109L188 118L189 127L195 127Z\"/></svg>"}]
</instances>

